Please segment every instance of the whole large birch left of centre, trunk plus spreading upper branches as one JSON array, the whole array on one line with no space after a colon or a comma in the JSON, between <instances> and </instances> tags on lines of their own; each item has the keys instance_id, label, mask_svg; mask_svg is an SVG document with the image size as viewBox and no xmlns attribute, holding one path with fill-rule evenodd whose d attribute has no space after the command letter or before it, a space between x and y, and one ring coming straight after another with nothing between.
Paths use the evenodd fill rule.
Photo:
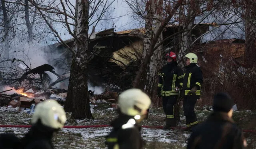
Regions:
<instances>
[{"instance_id":1,"label":"whole large birch left of centre, trunk plus spreading upper branches","mask_svg":"<svg viewBox=\"0 0 256 149\"><path fill-rule=\"evenodd\" d=\"M72 117L76 119L92 118L87 81L88 61L92 59L93 55L92 51L88 49L88 29L90 24L99 22L113 0L110 4L107 4L108 0L76 0L74 4L72 1L63 0L50 4L35 0L29 0L29 2L36 7L38 14L42 16L56 39L72 51L68 95L64 109L66 112L72 112ZM93 20L92 17L99 10L101 13ZM46 14L56 14L57 17L49 18ZM72 47L65 43L51 22L64 24L68 33L74 38Z\"/></svg>"}]
</instances>

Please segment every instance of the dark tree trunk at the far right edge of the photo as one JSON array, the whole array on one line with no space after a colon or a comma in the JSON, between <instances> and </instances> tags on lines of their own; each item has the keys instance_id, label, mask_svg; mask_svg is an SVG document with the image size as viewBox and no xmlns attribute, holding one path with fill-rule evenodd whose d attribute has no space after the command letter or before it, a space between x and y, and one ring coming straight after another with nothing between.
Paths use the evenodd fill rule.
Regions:
<instances>
[{"instance_id":1,"label":"dark tree trunk at the far right edge of the photo","mask_svg":"<svg viewBox=\"0 0 256 149\"><path fill-rule=\"evenodd\" d=\"M247 67L256 67L256 1L245 1L245 55Z\"/></svg>"}]
</instances>

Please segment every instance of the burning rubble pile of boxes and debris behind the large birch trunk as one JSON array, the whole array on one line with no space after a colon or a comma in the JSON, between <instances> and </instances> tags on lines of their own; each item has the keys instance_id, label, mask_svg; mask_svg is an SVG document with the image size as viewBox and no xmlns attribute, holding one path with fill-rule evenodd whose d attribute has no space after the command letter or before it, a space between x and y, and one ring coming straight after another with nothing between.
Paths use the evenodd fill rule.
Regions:
<instances>
[{"instance_id":1,"label":"burning rubble pile of boxes and debris behind the large birch trunk","mask_svg":"<svg viewBox=\"0 0 256 149\"><path fill-rule=\"evenodd\" d=\"M118 92L108 90L105 90L102 94L94 94L92 90L89 90L91 111L94 111L93 109L98 102L108 103L110 108L116 109L118 94ZM0 106L31 114L34 112L36 104L48 99L54 99L64 106L66 97L67 90L64 89L38 90L32 87L24 91L11 88L0 92Z\"/></svg>"}]
</instances>

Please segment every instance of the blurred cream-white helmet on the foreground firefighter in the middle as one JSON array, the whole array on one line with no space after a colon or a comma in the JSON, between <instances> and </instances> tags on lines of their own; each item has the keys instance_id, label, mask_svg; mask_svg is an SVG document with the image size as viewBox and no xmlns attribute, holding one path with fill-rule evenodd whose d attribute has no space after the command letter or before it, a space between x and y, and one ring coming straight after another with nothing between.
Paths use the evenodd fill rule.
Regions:
<instances>
[{"instance_id":1,"label":"blurred cream-white helmet on the foreground firefighter in the middle","mask_svg":"<svg viewBox=\"0 0 256 149\"><path fill-rule=\"evenodd\" d=\"M149 96L137 88L125 90L119 95L118 106L128 116L143 115L151 104Z\"/></svg>"}]
</instances>

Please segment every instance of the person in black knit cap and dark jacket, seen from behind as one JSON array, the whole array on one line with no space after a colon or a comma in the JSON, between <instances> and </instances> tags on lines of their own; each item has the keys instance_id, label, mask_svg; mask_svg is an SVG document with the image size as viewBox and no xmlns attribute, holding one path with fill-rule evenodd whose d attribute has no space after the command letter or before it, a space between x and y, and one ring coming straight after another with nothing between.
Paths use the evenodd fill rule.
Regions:
<instances>
[{"instance_id":1,"label":"person in black knit cap and dark jacket, seen from behind","mask_svg":"<svg viewBox=\"0 0 256 149\"><path fill-rule=\"evenodd\" d=\"M214 96L213 112L206 122L194 127L187 149L244 149L241 129L232 120L234 102L226 93Z\"/></svg>"}]
</instances>

